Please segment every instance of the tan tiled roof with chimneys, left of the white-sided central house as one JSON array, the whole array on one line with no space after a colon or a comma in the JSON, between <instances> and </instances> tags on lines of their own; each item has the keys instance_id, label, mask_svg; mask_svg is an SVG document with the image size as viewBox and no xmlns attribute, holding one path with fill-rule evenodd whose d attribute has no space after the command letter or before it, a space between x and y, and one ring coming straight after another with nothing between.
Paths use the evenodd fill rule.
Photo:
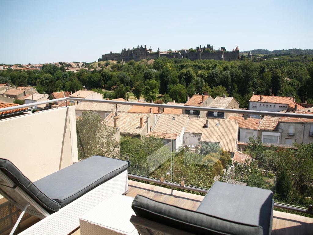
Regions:
<instances>
[{"instance_id":1,"label":"tan tiled roof with chimneys, left of the white-sided central house","mask_svg":"<svg viewBox=\"0 0 313 235\"><path fill-rule=\"evenodd\" d=\"M114 113L110 113L102 123L111 127L114 127ZM146 128L147 116L156 116L151 113L129 113L118 112L117 128L120 129L122 134L140 135L142 130ZM143 125L140 127L140 118L143 118Z\"/></svg>"}]
</instances>

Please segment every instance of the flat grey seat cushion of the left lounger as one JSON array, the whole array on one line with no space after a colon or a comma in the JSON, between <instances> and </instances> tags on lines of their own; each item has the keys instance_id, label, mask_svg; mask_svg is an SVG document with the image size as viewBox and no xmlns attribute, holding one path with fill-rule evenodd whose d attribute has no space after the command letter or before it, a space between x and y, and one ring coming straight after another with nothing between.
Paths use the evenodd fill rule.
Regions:
<instances>
[{"instance_id":1,"label":"flat grey seat cushion of the left lounger","mask_svg":"<svg viewBox=\"0 0 313 235\"><path fill-rule=\"evenodd\" d=\"M129 166L127 161L92 156L37 180L34 185L63 207Z\"/></svg>"}]
</instances>

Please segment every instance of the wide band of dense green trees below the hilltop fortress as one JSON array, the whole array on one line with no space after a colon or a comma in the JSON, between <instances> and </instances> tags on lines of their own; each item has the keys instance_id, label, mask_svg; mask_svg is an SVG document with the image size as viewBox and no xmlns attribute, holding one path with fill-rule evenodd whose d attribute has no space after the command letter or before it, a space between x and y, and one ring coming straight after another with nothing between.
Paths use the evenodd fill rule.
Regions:
<instances>
[{"instance_id":1,"label":"wide band of dense green trees below the hilltop fortress","mask_svg":"<svg viewBox=\"0 0 313 235\"><path fill-rule=\"evenodd\" d=\"M296 60L295 60L296 58ZM295 96L297 102L313 102L312 56L278 60L216 61L160 58L125 64L100 64L90 71L65 72L64 66L45 64L43 69L0 72L0 83L35 86L40 93L96 89L105 98L123 97L132 91L139 99L186 102L187 95L208 91L212 97L232 96L248 107L255 94ZM114 91L114 92L110 92ZM162 94L163 96L160 96Z\"/></svg>"}]
</instances>

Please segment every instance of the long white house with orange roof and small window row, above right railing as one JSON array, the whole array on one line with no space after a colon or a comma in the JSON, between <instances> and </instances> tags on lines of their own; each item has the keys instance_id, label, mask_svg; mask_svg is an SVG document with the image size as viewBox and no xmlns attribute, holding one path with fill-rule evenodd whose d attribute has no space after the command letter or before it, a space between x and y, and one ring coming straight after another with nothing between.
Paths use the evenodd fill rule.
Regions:
<instances>
[{"instance_id":1,"label":"long white house with orange roof and small window row, above right railing","mask_svg":"<svg viewBox=\"0 0 313 235\"><path fill-rule=\"evenodd\" d=\"M288 110L294 102L294 97L252 95L249 100L249 110L280 112Z\"/></svg>"}]
</instances>

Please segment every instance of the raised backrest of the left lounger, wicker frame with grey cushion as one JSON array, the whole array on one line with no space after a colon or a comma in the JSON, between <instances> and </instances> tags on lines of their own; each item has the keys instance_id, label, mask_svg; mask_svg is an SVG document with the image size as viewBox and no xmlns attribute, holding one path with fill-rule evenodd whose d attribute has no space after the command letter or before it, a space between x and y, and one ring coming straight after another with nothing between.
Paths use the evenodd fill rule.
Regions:
<instances>
[{"instance_id":1,"label":"raised backrest of the left lounger, wicker frame with grey cushion","mask_svg":"<svg viewBox=\"0 0 313 235\"><path fill-rule=\"evenodd\" d=\"M60 209L60 204L44 195L38 188L9 160L0 158L0 194L19 209L27 203L27 211L39 218L44 218Z\"/></svg>"}]
</instances>

